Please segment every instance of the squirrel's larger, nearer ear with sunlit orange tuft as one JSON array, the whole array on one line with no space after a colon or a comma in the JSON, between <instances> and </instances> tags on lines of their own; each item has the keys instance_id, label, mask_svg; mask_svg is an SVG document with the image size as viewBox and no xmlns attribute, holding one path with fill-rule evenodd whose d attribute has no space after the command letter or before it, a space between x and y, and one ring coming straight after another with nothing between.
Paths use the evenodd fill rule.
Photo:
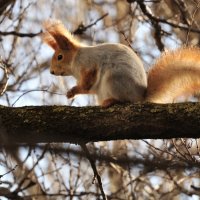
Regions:
<instances>
[{"instance_id":1,"label":"squirrel's larger, nearer ear with sunlit orange tuft","mask_svg":"<svg viewBox=\"0 0 200 200\"><path fill-rule=\"evenodd\" d=\"M79 43L73 38L72 34L65 28L62 22L48 20L43 23L43 27L61 49L70 50L79 46Z\"/></svg>"}]
</instances>

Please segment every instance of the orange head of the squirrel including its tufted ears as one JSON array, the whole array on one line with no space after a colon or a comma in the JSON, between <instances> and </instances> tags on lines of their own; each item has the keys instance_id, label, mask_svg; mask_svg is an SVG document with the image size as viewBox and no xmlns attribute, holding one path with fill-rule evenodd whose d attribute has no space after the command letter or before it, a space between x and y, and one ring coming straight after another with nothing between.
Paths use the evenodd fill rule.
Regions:
<instances>
[{"instance_id":1,"label":"orange head of the squirrel including its tufted ears","mask_svg":"<svg viewBox=\"0 0 200 200\"><path fill-rule=\"evenodd\" d=\"M71 68L80 43L60 21L49 20L43 26L42 39L55 50L50 71L54 75L72 75ZM63 59L58 60L58 55L62 55Z\"/></svg>"}]
</instances>

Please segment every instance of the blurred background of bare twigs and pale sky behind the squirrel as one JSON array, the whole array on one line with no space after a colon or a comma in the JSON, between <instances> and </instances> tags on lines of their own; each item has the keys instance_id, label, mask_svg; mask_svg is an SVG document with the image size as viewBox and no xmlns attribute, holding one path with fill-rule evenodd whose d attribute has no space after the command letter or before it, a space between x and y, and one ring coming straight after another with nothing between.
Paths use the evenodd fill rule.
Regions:
<instances>
[{"instance_id":1,"label":"blurred background of bare twigs and pale sky behind the squirrel","mask_svg":"<svg viewBox=\"0 0 200 200\"><path fill-rule=\"evenodd\" d=\"M130 46L146 71L163 50L200 45L199 0L0 0L1 105L95 105L93 96L66 98L73 77L50 75L53 51L40 34L51 18L86 44ZM200 199L199 140L88 147L108 199ZM102 194L79 146L38 144L0 148L0 199L102 199Z\"/></svg>"}]
</instances>

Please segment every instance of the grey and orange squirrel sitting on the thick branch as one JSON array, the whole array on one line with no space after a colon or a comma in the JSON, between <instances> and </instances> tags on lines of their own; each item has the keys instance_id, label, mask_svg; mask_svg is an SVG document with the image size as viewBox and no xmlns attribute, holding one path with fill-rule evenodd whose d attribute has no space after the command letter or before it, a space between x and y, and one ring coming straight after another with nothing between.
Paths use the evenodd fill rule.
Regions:
<instances>
[{"instance_id":1,"label":"grey and orange squirrel sitting on the thick branch","mask_svg":"<svg viewBox=\"0 0 200 200\"><path fill-rule=\"evenodd\" d=\"M55 50L50 73L74 76L77 85L67 92L96 94L98 104L121 102L173 103L200 89L200 49L182 47L161 55L148 72L134 51L123 44L86 46L60 21L46 21L42 39Z\"/></svg>"}]
</instances>

